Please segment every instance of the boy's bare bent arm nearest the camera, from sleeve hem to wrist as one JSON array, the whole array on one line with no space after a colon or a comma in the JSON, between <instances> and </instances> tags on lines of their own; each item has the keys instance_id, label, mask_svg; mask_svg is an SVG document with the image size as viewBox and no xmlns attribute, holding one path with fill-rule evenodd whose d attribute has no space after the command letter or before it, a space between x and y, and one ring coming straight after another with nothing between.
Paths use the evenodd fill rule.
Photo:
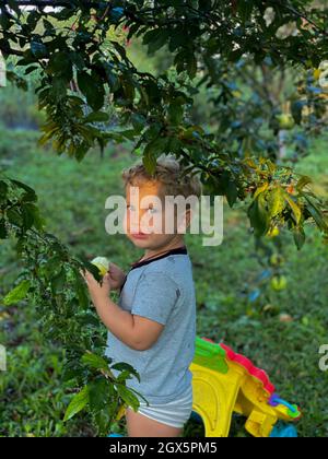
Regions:
<instances>
[{"instance_id":1,"label":"boy's bare bent arm nearest the camera, from sleeve hem to wrist","mask_svg":"<svg viewBox=\"0 0 328 459\"><path fill-rule=\"evenodd\" d=\"M105 327L116 338L137 351L150 349L164 329L162 323L121 309L110 298L95 301L94 305Z\"/></svg>"}]
</instances>

